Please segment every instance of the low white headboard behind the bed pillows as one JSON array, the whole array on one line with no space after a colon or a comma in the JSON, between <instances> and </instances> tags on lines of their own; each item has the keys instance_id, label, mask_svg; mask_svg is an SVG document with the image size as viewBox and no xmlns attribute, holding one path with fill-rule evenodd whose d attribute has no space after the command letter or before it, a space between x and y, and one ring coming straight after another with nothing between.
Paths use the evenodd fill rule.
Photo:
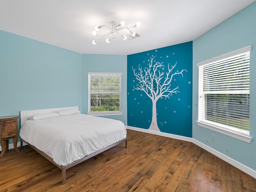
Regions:
<instances>
[{"instance_id":1,"label":"low white headboard behind the bed pillows","mask_svg":"<svg viewBox=\"0 0 256 192\"><path fill-rule=\"evenodd\" d=\"M20 125L22 126L23 123L26 120L28 120L28 117L31 116L31 115L42 114L42 113L50 113L50 112L58 112L58 110L62 110L62 109L76 109L76 110L78 110L78 106L20 111Z\"/></svg>"}]
</instances>

